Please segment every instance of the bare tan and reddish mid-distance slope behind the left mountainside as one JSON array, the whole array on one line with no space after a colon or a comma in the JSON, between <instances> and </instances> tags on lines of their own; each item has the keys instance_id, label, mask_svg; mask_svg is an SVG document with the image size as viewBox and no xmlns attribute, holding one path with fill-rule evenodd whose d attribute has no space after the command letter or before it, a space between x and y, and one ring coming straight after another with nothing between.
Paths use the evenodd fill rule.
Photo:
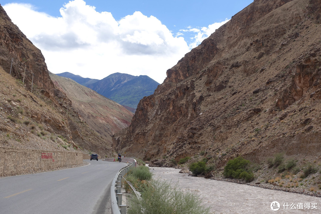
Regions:
<instances>
[{"instance_id":1,"label":"bare tan and reddish mid-distance slope behind the left mountainside","mask_svg":"<svg viewBox=\"0 0 321 214\"><path fill-rule=\"evenodd\" d=\"M105 142L111 144L111 136L129 126L133 113L125 107L69 78L49 75L55 86L71 100L72 107Z\"/></svg>"}]
</instances>

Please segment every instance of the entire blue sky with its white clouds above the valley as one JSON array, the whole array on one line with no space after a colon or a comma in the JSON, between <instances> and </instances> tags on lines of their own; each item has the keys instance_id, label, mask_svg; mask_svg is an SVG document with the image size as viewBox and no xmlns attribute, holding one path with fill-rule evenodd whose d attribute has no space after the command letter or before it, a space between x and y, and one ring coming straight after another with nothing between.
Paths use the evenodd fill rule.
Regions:
<instances>
[{"instance_id":1,"label":"entire blue sky with its white clouds above the valley","mask_svg":"<svg viewBox=\"0 0 321 214\"><path fill-rule=\"evenodd\" d=\"M1 1L42 51L52 73L94 79L148 75L159 83L219 26L253 0Z\"/></svg>"}]
</instances>

